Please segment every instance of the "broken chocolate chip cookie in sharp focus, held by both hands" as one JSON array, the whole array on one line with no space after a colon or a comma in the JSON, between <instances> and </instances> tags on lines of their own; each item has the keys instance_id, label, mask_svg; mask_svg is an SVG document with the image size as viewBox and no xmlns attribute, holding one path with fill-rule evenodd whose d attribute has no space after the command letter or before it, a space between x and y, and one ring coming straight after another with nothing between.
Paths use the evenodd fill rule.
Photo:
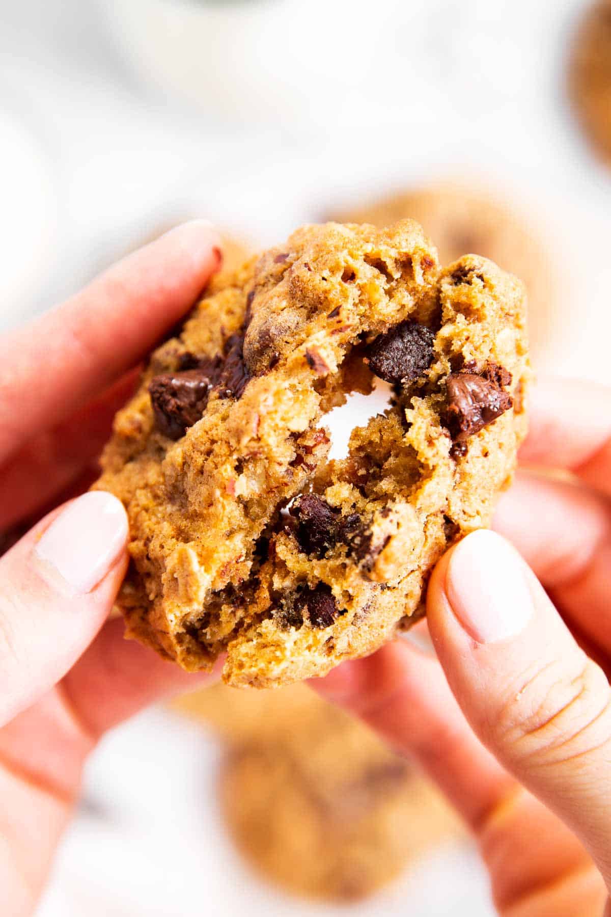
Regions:
<instances>
[{"instance_id":1,"label":"broken chocolate chip cookie in sharp focus, held by both hands","mask_svg":"<svg viewBox=\"0 0 611 917\"><path fill-rule=\"evenodd\" d=\"M394 386L328 460L323 414ZM117 414L97 487L129 515L128 635L265 687L373 652L487 525L526 431L524 289L440 271L420 226L304 226L213 280Z\"/></svg>"}]
</instances>

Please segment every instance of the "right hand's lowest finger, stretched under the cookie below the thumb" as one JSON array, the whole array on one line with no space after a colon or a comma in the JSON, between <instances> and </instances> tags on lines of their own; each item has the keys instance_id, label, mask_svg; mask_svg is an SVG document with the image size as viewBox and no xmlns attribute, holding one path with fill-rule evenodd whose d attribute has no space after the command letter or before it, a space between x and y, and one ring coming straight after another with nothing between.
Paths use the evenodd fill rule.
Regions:
<instances>
[{"instance_id":1,"label":"right hand's lowest finger, stretched under the cookie below the thumb","mask_svg":"<svg viewBox=\"0 0 611 917\"><path fill-rule=\"evenodd\" d=\"M390 644L312 679L311 686L365 720L399 753L416 758L475 831L499 909L558 884L574 901L573 877L591 867L584 848L475 738L435 659ZM583 890L579 883L577 888ZM595 900L601 900L598 887Z\"/></svg>"}]
</instances>

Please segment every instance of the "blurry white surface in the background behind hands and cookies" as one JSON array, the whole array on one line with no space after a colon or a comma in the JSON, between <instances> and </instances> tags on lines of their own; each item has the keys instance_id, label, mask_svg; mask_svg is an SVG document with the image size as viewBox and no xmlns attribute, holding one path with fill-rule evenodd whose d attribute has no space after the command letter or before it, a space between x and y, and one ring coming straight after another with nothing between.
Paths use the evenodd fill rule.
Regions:
<instances>
[{"instance_id":1,"label":"blurry white surface in the background behind hands and cookies","mask_svg":"<svg viewBox=\"0 0 611 917\"><path fill-rule=\"evenodd\" d=\"M263 244L363 192L456 175L499 187L549 237L562 283L547 368L605 378L611 179L562 71L584 2L225 0L211 18L205 0L0 0L0 328L177 215ZM217 755L159 712L110 736L38 917L320 912L237 861ZM473 852L454 848L353 912L381 911L491 908Z\"/></svg>"}]
</instances>

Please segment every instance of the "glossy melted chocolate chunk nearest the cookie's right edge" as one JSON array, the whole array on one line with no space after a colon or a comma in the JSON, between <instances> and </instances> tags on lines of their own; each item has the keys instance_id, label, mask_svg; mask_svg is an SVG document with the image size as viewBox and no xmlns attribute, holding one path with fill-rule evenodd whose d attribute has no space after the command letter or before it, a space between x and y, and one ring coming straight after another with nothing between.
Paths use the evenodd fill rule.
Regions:
<instances>
[{"instance_id":1,"label":"glossy melted chocolate chunk nearest the cookie's right edge","mask_svg":"<svg viewBox=\"0 0 611 917\"><path fill-rule=\"evenodd\" d=\"M472 372L452 373L447 379L445 424L457 443L479 433L512 405L511 395L496 382Z\"/></svg>"}]
</instances>

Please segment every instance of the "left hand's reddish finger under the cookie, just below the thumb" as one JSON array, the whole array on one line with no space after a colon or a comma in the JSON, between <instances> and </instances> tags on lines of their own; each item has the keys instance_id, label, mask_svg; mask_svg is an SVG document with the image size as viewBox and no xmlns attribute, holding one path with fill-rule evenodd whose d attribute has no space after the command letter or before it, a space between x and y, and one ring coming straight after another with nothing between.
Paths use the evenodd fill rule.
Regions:
<instances>
[{"instance_id":1,"label":"left hand's reddish finger under the cookie, just below the thumb","mask_svg":"<svg viewBox=\"0 0 611 917\"><path fill-rule=\"evenodd\" d=\"M109 621L62 682L71 707L98 737L148 704L218 680L212 672L185 672L147 646L125 640L123 621Z\"/></svg>"}]
</instances>

